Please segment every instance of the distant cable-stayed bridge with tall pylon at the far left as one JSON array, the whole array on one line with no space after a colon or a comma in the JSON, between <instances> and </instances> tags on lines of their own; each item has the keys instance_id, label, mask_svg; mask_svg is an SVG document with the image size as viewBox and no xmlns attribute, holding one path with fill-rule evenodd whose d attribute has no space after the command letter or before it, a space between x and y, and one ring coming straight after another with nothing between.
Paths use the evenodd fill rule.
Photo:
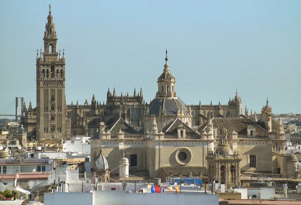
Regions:
<instances>
[{"instance_id":1,"label":"distant cable-stayed bridge with tall pylon at the far left","mask_svg":"<svg viewBox=\"0 0 301 205\"><path fill-rule=\"evenodd\" d=\"M21 108L19 107L19 99L21 99ZM21 117L19 112L22 114L24 97L16 97L16 100L10 101L7 105L0 108L0 116L15 116L16 122L18 122L18 118ZM14 113L15 110L15 114Z\"/></svg>"}]
</instances>

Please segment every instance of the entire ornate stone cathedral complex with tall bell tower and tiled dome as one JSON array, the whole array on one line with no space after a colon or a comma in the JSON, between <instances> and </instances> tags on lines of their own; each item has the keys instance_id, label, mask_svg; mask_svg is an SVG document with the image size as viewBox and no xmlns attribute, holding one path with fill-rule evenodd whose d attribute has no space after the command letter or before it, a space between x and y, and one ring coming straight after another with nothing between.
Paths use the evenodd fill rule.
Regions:
<instances>
[{"instance_id":1,"label":"entire ornate stone cathedral complex with tall bell tower and tiled dome","mask_svg":"<svg viewBox=\"0 0 301 205\"><path fill-rule=\"evenodd\" d=\"M282 123L272 119L268 100L260 115L250 116L246 108L242 114L237 90L227 105L185 105L166 51L158 91L149 103L142 88L118 96L115 88L108 88L102 103L93 94L90 103L66 105L65 52L57 51L51 10L43 40L44 51L36 59L37 107L30 102L27 108L24 102L22 109L30 140L91 136L91 162L101 153L111 174L119 173L119 160L126 158L130 175L166 178L183 173L229 186L237 186L241 174L272 173L275 167L283 176L296 176L295 156L284 154Z\"/></svg>"}]
</instances>

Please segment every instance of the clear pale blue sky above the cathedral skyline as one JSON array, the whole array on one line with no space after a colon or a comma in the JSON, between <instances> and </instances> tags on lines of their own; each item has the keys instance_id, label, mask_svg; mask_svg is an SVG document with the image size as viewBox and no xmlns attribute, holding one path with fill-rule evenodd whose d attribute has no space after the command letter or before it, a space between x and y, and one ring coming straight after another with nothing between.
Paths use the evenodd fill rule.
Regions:
<instances>
[{"instance_id":1,"label":"clear pale blue sky above the cathedral skyline","mask_svg":"<svg viewBox=\"0 0 301 205\"><path fill-rule=\"evenodd\" d=\"M242 97L260 113L301 113L301 1L0 1L0 110L16 96L36 106L36 50L48 5L65 49L67 104L106 100L108 87L146 101L165 48L186 104Z\"/></svg>"}]
</instances>

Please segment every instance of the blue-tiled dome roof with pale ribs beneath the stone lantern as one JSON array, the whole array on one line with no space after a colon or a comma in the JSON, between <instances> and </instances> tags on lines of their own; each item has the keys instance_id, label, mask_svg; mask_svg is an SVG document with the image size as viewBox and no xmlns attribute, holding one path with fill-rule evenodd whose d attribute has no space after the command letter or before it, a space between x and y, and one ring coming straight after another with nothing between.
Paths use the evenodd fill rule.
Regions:
<instances>
[{"instance_id":1,"label":"blue-tiled dome roof with pale ribs beneath the stone lantern","mask_svg":"<svg viewBox=\"0 0 301 205\"><path fill-rule=\"evenodd\" d=\"M182 109L185 116L189 116L184 102L180 98L155 98L149 104L149 116L159 116L160 109L165 110L165 115L176 116Z\"/></svg>"}]
</instances>

